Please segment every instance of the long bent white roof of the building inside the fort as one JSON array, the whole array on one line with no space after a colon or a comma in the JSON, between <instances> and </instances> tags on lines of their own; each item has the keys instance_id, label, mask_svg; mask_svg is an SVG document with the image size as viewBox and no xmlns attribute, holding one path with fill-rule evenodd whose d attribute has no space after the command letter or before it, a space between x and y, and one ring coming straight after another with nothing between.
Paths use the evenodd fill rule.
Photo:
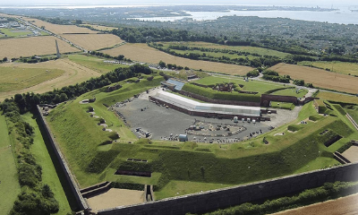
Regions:
<instances>
[{"instance_id":1,"label":"long bent white roof of the building inside the fort","mask_svg":"<svg viewBox=\"0 0 358 215\"><path fill-rule=\"evenodd\" d=\"M166 101L167 103L173 104L177 107L183 107L185 109L195 110L198 112L241 116L260 116L260 107L200 103L198 101L186 99L166 91L158 91L157 95L154 98Z\"/></svg>"}]
</instances>

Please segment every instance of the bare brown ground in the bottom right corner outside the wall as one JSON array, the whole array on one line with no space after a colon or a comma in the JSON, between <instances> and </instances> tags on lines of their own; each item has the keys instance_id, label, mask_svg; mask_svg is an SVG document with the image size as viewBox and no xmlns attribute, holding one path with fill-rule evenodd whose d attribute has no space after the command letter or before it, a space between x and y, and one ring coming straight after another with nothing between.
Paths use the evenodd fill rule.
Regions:
<instances>
[{"instance_id":1,"label":"bare brown ground in the bottom right corner outside the wall","mask_svg":"<svg viewBox=\"0 0 358 215\"><path fill-rule=\"evenodd\" d=\"M298 209L275 213L276 215L354 215L358 214L358 193L337 200L315 203Z\"/></svg>"}]
</instances>

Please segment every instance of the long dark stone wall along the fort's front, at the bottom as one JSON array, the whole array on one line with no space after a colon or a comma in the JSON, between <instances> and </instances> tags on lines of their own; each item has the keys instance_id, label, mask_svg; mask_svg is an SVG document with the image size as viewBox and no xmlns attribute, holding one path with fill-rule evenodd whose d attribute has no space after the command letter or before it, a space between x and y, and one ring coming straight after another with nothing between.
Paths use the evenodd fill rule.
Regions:
<instances>
[{"instance_id":1,"label":"long dark stone wall along the fort's front, at the bottom","mask_svg":"<svg viewBox=\"0 0 358 215\"><path fill-rule=\"evenodd\" d=\"M263 164L264 165L264 164ZM357 181L358 163L342 167L328 168L309 173L279 177L249 185L239 185L203 193L194 193L156 202L146 202L132 206L117 207L98 211L98 215L115 214L171 214L179 215L188 212L200 213L215 211L243 202L252 202L296 193L326 182Z\"/></svg>"}]
</instances>

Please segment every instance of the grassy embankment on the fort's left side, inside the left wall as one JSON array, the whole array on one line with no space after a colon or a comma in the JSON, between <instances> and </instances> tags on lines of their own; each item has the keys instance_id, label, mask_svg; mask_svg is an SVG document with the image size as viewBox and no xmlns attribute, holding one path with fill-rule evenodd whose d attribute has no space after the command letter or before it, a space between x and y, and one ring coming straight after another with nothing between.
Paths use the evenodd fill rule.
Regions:
<instances>
[{"instance_id":1,"label":"grassy embankment on the fort's left side, inside the left wall","mask_svg":"<svg viewBox=\"0 0 358 215\"><path fill-rule=\"evenodd\" d=\"M141 80L139 83L120 82L123 85L120 90L108 93L100 90L92 91L56 107L47 117L56 140L60 143L72 171L82 186L93 185L102 180L103 178L98 179L98 172L106 168L120 153L115 147L111 148L111 145L107 145L108 141L114 139L115 133L119 133L121 142L137 140L131 130L103 104L110 106L115 102L129 99L135 94L158 86L161 81L163 78L157 76L151 82L147 80ZM90 99L93 96L96 96L96 102L90 105L79 104L82 99ZM107 128L112 129L113 132L102 131L103 127L97 125L98 118L90 117L87 113L90 106L94 107L95 116L103 117L108 125Z\"/></svg>"}]
</instances>

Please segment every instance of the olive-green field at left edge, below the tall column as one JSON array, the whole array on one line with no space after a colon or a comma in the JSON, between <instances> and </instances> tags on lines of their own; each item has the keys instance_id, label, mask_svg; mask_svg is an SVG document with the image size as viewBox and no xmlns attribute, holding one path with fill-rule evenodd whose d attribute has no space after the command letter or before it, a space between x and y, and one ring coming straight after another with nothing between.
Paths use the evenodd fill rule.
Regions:
<instances>
[{"instance_id":1,"label":"olive-green field at left edge, below the tall column","mask_svg":"<svg viewBox=\"0 0 358 215\"><path fill-rule=\"evenodd\" d=\"M0 92L21 90L61 76L63 70L44 68L0 67Z\"/></svg>"}]
</instances>

